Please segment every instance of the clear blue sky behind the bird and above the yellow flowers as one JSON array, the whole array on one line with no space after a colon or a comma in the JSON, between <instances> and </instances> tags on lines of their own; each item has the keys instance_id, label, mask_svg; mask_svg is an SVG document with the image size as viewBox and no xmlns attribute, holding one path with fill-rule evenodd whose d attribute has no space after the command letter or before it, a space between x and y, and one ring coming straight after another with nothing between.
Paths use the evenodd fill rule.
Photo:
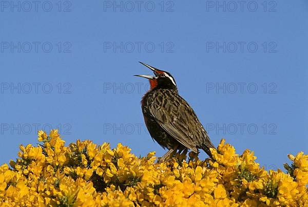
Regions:
<instances>
[{"instance_id":1,"label":"clear blue sky behind the bird and above the yellow flowers","mask_svg":"<svg viewBox=\"0 0 308 207\"><path fill-rule=\"evenodd\" d=\"M266 169L308 153L308 2L2 1L0 164L36 130L66 143L153 143L135 74L170 72L217 146L255 151ZM205 158L201 152L201 158Z\"/></svg>"}]
</instances>

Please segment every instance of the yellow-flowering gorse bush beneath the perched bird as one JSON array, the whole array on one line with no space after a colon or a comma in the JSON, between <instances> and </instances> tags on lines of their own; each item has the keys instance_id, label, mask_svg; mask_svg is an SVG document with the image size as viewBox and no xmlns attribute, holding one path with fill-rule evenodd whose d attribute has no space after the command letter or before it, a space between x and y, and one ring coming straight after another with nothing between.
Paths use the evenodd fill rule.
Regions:
<instances>
[{"instance_id":1,"label":"yellow-flowering gorse bush beneath the perched bird","mask_svg":"<svg viewBox=\"0 0 308 207\"><path fill-rule=\"evenodd\" d=\"M308 206L308 155L267 172L254 153L237 155L222 140L213 159L184 154L157 164L126 146L90 140L65 147L57 130L0 167L0 206Z\"/></svg>"}]
</instances>

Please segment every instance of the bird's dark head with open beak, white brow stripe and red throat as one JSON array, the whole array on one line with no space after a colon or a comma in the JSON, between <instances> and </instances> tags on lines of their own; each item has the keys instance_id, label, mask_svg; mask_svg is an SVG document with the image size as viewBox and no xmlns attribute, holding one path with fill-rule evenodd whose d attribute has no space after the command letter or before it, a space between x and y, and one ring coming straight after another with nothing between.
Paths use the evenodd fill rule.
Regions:
<instances>
[{"instance_id":1,"label":"bird's dark head with open beak, white brow stripe and red throat","mask_svg":"<svg viewBox=\"0 0 308 207\"><path fill-rule=\"evenodd\" d=\"M150 81L151 90L154 88L167 88L167 89L175 89L177 90L177 84L175 79L166 71L159 70L155 67L152 67L148 64L140 62L144 66L148 67L151 71L153 71L155 76L151 75L135 75L143 78L147 78Z\"/></svg>"}]
</instances>

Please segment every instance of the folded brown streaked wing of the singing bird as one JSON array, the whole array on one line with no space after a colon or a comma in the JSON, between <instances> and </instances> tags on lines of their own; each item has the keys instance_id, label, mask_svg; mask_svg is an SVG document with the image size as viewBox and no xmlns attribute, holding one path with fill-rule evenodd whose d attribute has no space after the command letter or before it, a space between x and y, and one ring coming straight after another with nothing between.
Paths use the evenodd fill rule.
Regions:
<instances>
[{"instance_id":1,"label":"folded brown streaked wing of the singing bird","mask_svg":"<svg viewBox=\"0 0 308 207\"><path fill-rule=\"evenodd\" d=\"M194 152L197 150L197 137L192 130L199 129L200 122L188 103L179 95L174 96L173 101L161 101L159 105L150 107L152 116L157 123L178 142ZM156 102L157 104L157 102ZM197 121L197 122L196 122ZM201 124L200 124L201 125ZM201 125L202 127L202 125ZM203 127L202 127L203 128Z\"/></svg>"}]
</instances>

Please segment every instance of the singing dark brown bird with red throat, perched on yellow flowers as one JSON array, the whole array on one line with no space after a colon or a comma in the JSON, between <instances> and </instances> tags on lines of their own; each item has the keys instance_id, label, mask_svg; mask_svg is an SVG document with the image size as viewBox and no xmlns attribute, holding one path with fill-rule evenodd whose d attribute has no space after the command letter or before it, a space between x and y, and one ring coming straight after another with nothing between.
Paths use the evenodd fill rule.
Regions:
<instances>
[{"instance_id":1,"label":"singing dark brown bird with red throat, perched on yellow flowers","mask_svg":"<svg viewBox=\"0 0 308 207\"><path fill-rule=\"evenodd\" d=\"M199 149L212 157L210 148L215 148L197 115L178 91L176 81L166 71L140 62L153 73L134 75L149 80L150 89L142 97L141 108L145 125L152 137L163 149L168 149L160 162L177 151Z\"/></svg>"}]
</instances>

